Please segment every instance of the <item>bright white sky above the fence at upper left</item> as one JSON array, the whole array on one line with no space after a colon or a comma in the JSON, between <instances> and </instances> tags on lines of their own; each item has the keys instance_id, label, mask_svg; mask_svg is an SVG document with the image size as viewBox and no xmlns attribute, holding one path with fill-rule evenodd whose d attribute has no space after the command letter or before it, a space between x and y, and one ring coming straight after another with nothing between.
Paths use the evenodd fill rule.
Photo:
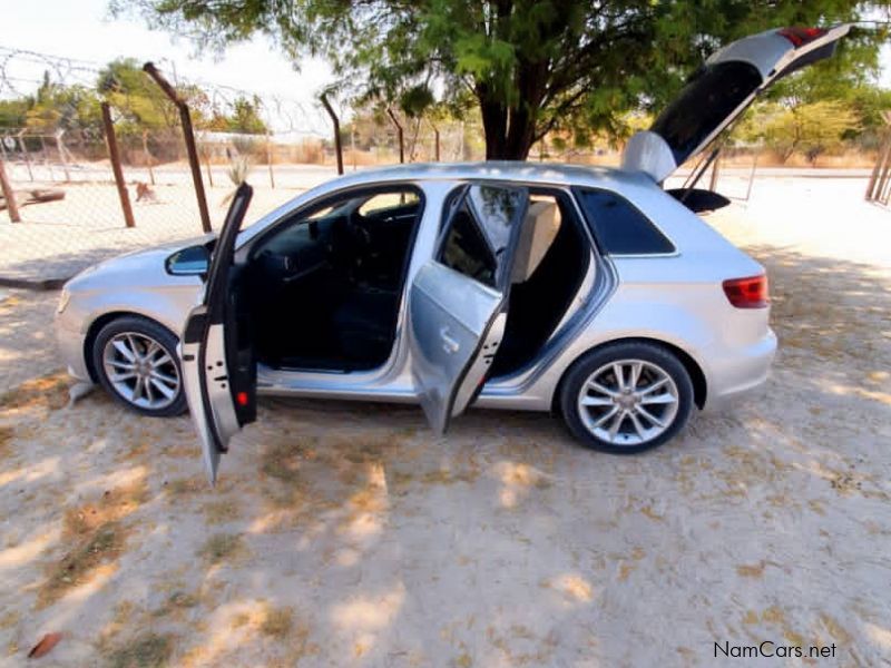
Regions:
<instances>
[{"instance_id":1,"label":"bright white sky above the fence at upper left","mask_svg":"<svg viewBox=\"0 0 891 668\"><path fill-rule=\"evenodd\" d=\"M294 71L265 38L231 47L223 59L196 56L187 40L149 30L140 19L110 19L108 0L0 0L0 47L6 48L99 65L119 57L153 60L170 76L175 63L180 78L301 101L311 101L333 80L321 60L309 60ZM26 67L18 66L13 76L39 77Z\"/></svg>"}]
</instances>

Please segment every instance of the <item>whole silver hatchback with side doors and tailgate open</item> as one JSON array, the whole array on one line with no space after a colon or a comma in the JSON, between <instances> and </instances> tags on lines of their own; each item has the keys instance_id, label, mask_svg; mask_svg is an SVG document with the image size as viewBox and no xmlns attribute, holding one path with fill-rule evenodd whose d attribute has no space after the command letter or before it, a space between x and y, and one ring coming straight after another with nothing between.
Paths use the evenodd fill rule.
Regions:
<instances>
[{"instance_id":1,"label":"whole silver hatchback with side doors and tailgate open","mask_svg":"<svg viewBox=\"0 0 891 668\"><path fill-rule=\"evenodd\" d=\"M148 415L187 407L215 480L257 394L555 411L586 445L639 452L761 385L776 350L764 269L662 183L846 27L712 56L620 169L407 165L319 186L242 229L119 257L63 289L77 379Z\"/></svg>"}]
</instances>

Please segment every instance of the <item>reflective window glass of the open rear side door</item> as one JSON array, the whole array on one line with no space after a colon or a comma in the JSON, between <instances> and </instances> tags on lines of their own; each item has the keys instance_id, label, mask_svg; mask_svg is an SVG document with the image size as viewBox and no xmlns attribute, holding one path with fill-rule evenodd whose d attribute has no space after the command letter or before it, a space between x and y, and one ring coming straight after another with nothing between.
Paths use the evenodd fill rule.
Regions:
<instances>
[{"instance_id":1,"label":"reflective window glass of the open rear side door","mask_svg":"<svg viewBox=\"0 0 891 668\"><path fill-rule=\"evenodd\" d=\"M471 186L448 224L439 262L495 287L522 204L520 189Z\"/></svg>"}]
</instances>

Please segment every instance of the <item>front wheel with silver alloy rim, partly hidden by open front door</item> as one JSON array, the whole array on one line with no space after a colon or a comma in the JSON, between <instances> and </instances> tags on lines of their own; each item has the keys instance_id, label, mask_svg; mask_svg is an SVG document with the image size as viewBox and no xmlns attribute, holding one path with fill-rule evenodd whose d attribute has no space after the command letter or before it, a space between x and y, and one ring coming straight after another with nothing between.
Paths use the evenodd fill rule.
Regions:
<instances>
[{"instance_id":1,"label":"front wheel with silver alloy rim, partly hidden by open front door","mask_svg":"<svg viewBox=\"0 0 891 668\"><path fill-rule=\"evenodd\" d=\"M96 335L92 367L105 391L127 409L151 418L179 415L187 404L176 344L177 337L155 321L119 317Z\"/></svg>"}]
</instances>

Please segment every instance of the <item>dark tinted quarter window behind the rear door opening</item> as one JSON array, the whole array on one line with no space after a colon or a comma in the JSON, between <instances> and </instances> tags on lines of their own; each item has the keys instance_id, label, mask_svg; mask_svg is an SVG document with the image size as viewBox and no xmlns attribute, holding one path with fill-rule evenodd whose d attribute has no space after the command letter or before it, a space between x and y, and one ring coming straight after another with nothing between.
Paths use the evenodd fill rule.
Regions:
<instances>
[{"instance_id":1,"label":"dark tinted quarter window behind the rear door opening","mask_svg":"<svg viewBox=\"0 0 891 668\"><path fill-rule=\"evenodd\" d=\"M609 255L662 255L675 247L630 202L608 190L577 189L581 210Z\"/></svg>"}]
</instances>

